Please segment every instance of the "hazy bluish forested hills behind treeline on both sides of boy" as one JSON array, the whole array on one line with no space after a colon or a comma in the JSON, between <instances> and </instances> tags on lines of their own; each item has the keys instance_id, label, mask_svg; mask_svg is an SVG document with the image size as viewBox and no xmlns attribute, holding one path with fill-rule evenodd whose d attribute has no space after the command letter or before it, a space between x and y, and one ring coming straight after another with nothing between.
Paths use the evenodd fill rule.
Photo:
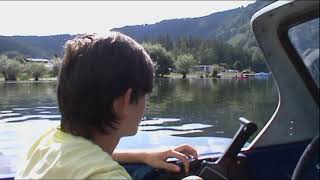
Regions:
<instances>
[{"instance_id":1,"label":"hazy bluish forested hills behind treeline on both sides of boy","mask_svg":"<svg viewBox=\"0 0 320 180\"><path fill-rule=\"evenodd\" d=\"M255 41L250 29L251 16L271 1L257 1L247 7L213 13L199 18L164 20L151 25L125 26L113 30L123 32L136 40L157 40L161 36L194 37L222 40L232 45L250 48ZM1 36L0 54L22 54L32 58L61 56L64 43L71 35L55 36Z\"/></svg>"}]
</instances>

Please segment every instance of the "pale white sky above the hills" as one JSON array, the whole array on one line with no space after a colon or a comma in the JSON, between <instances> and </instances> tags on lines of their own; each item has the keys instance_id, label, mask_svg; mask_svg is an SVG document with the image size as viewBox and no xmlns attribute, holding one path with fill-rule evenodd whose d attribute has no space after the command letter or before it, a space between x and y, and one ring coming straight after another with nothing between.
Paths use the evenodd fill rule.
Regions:
<instances>
[{"instance_id":1,"label":"pale white sky above the hills","mask_svg":"<svg viewBox=\"0 0 320 180\"><path fill-rule=\"evenodd\" d=\"M126 25L206 16L254 1L0 1L0 35L103 33Z\"/></svg>"}]
</instances>

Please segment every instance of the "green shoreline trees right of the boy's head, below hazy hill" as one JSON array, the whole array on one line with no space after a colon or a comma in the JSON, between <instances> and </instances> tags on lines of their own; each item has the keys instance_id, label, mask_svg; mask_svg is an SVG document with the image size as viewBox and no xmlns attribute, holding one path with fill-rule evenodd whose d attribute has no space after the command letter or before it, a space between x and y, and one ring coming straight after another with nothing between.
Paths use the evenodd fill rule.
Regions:
<instances>
[{"instance_id":1,"label":"green shoreline trees right of the boy's head, below hazy hill","mask_svg":"<svg viewBox=\"0 0 320 180\"><path fill-rule=\"evenodd\" d=\"M218 69L238 71L245 69L254 72L268 71L264 57L256 46L243 48L217 40L193 37L172 41L168 35L145 41L142 45L156 63L157 76L176 71L185 77L196 65L214 65Z\"/></svg>"}]
</instances>

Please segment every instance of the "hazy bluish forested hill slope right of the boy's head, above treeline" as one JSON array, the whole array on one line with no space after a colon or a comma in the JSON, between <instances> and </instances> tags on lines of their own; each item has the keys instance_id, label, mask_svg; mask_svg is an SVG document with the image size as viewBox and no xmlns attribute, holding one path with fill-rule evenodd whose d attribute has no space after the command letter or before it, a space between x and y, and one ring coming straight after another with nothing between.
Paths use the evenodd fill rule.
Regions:
<instances>
[{"instance_id":1,"label":"hazy bluish forested hill slope right of the boy's head, above treeline","mask_svg":"<svg viewBox=\"0 0 320 180\"><path fill-rule=\"evenodd\" d=\"M233 45L250 47L255 42L250 28L252 15L272 1L257 1L247 7L213 13L199 18L164 20L156 24L125 26L113 30L123 32L138 41L169 36L214 39Z\"/></svg>"}]
</instances>

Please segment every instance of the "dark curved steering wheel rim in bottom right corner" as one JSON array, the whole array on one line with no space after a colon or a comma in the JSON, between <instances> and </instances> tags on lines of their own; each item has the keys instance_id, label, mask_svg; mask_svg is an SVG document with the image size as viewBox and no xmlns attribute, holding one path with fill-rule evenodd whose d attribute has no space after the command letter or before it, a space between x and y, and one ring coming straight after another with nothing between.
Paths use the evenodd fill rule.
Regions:
<instances>
[{"instance_id":1,"label":"dark curved steering wheel rim in bottom right corner","mask_svg":"<svg viewBox=\"0 0 320 180\"><path fill-rule=\"evenodd\" d=\"M302 153L296 168L294 169L292 180L303 180L306 177L308 165L317 157L319 153L319 135L313 138L311 143Z\"/></svg>"}]
</instances>

